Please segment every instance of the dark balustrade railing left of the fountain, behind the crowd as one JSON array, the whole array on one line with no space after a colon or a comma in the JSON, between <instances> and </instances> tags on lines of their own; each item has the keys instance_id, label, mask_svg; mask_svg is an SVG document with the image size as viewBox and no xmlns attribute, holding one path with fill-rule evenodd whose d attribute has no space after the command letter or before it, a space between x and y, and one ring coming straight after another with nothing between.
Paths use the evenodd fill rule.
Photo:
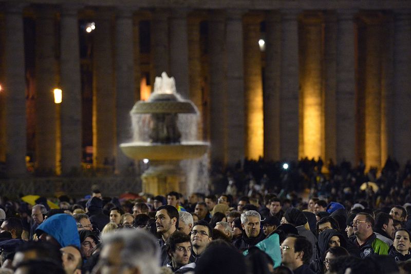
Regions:
<instances>
[{"instance_id":1,"label":"dark balustrade railing left of the fountain, behind the crowd","mask_svg":"<svg viewBox=\"0 0 411 274\"><path fill-rule=\"evenodd\" d=\"M90 194L92 187L100 189L103 196L115 197L126 191L140 192L141 180L136 176L0 179L0 195L9 198L17 198L21 194L35 194L45 197L58 197L67 194L69 197L80 198Z\"/></svg>"}]
</instances>

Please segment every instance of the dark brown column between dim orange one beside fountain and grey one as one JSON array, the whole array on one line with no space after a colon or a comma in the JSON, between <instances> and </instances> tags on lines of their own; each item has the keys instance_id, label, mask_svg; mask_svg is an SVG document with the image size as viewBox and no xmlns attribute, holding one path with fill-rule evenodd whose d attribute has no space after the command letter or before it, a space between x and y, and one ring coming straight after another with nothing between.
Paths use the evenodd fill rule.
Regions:
<instances>
[{"instance_id":1,"label":"dark brown column between dim orange one beside fountain and grey one","mask_svg":"<svg viewBox=\"0 0 411 274\"><path fill-rule=\"evenodd\" d=\"M213 11L209 19L211 160L226 163L226 17ZM227 106L228 108L228 106Z\"/></svg>"}]
</instances>

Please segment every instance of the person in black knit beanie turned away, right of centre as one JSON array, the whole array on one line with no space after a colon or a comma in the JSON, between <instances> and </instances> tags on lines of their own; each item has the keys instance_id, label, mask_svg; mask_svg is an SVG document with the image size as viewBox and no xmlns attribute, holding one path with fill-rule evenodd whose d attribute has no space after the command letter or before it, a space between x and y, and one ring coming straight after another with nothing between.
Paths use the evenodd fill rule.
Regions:
<instances>
[{"instance_id":1,"label":"person in black knit beanie turned away, right of centre","mask_svg":"<svg viewBox=\"0 0 411 274\"><path fill-rule=\"evenodd\" d=\"M317 238L311 232L307 217L302 211L296 208L288 208L284 213L284 223L293 225L297 229L298 235L304 236L315 247ZM314 254L315 250L313 249L311 260L315 259Z\"/></svg>"}]
</instances>

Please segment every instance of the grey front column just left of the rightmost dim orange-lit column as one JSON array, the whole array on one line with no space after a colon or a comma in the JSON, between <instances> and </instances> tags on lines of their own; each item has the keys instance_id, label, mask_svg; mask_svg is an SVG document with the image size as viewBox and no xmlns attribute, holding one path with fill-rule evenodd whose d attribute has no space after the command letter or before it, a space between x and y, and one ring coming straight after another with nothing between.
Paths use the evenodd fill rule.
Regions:
<instances>
[{"instance_id":1,"label":"grey front column just left of the rightmost dim orange-lit column","mask_svg":"<svg viewBox=\"0 0 411 274\"><path fill-rule=\"evenodd\" d=\"M338 11L337 161L356 160L356 61L354 11Z\"/></svg>"}]
</instances>

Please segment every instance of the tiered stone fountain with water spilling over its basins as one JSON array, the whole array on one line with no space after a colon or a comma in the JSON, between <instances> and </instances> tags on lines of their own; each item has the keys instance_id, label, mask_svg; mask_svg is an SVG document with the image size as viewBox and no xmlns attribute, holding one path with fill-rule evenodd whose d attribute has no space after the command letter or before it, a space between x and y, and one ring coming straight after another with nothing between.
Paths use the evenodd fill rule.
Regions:
<instances>
[{"instance_id":1,"label":"tiered stone fountain with water spilling over its basins","mask_svg":"<svg viewBox=\"0 0 411 274\"><path fill-rule=\"evenodd\" d=\"M198 171L198 159L207 162L204 155L210 145L198 140L198 110L177 93L174 77L165 72L156 77L150 98L138 101L130 115L133 141L120 148L129 158L150 160L141 175L143 192L164 195L172 190L189 193L207 188L208 182L201 182L193 172ZM202 189L194 186L199 183Z\"/></svg>"}]
</instances>

